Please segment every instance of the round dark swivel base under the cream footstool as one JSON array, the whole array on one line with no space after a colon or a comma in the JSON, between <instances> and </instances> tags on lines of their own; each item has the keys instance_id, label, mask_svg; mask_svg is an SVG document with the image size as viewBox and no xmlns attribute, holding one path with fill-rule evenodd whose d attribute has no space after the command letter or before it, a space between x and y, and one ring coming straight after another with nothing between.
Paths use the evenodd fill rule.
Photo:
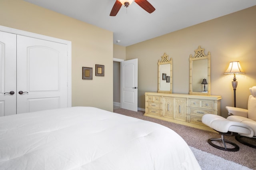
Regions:
<instances>
[{"instance_id":1,"label":"round dark swivel base under the cream footstool","mask_svg":"<svg viewBox=\"0 0 256 170\"><path fill-rule=\"evenodd\" d=\"M226 140L224 139L224 135L227 135L227 136L236 136L237 133L233 133L233 132L227 132L227 133L222 133L222 132L219 132L220 135L221 135L221 138L211 138L211 139L208 139L208 143L213 146L214 148L217 148L217 149L220 149L220 150L226 150L226 151L232 151L232 152L236 152L239 150L239 146L229 140ZM222 146L219 146L219 145L216 145L214 143L212 143L212 141L222 141L222 144L224 145L224 147ZM234 148L227 148L226 147L226 143L229 143L231 144L232 146L234 146Z\"/></svg>"}]
</instances>

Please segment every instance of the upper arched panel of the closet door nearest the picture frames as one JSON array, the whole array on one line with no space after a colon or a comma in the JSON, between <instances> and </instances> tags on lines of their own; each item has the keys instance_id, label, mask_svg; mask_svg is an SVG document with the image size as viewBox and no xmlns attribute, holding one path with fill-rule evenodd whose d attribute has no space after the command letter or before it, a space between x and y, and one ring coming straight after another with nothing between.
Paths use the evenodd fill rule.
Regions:
<instances>
[{"instance_id":1,"label":"upper arched panel of the closet door nearest the picture frames","mask_svg":"<svg viewBox=\"0 0 256 170\"><path fill-rule=\"evenodd\" d=\"M29 91L58 91L58 51L47 47L28 47L27 51Z\"/></svg>"}]
</instances>

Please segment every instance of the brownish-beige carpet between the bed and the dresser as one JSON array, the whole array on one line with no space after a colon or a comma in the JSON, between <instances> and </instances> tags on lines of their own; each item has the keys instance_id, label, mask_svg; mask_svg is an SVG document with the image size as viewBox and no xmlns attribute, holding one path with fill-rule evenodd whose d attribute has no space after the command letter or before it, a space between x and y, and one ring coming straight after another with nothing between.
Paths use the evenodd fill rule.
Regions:
<instances>
[{"instance_id":1,"label":"brownish-beige carpet between the bed and the dresser","mask_svg":"<svg viewBox=\"0 0 256 170\"><path fill-rule=\"evenodd\" d=\"M136 117L138 119L164 125L168 128L171 128L180 136L182 136L182 138L184 138L184 140L188 143L189 146L200 149L204 152L214 154L216 156L220 156L226 160L230 160L243 166L247 166L248 168L256 170L256 149L239 143L238 141L236 141L234 136L225 136L225 139L230 140L237 144L240 147L240 150L238 152L228 152L216 149L210 146L210 144L208 144L207 140L209 138L220 138L220 135L217 133L199 130L196 128L178 125L175 123L147 117L144 116L143 111L134 112L126 109L114 109L114 113L120 113L122 115Z\"/></svg>"}]
</instances>

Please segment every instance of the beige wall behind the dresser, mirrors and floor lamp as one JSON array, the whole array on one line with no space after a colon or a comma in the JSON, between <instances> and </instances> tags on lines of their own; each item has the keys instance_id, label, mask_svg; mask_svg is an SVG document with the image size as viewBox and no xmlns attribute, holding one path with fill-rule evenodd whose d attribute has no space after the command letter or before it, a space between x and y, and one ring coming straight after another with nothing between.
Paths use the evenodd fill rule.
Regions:
<instances>
[{"instance_id":1,"label":"beige wall behind the dresser, mirrors and floor lamp","mask_svg":"<svg viewBox=\"0 0 256 170\"><path fill-rule=\"evenodd\" d=\"M189 56L201 45L211 52L211 94L221 95L221 114L233 106L232 75L224 75L230 61L240 61L246 75L237 75L236 107L247 108L249 87L256 85L256 6L164 36L126 47L126 59L138 58L138 107L144 93L158 90L158 59L173 59L173 93L189 92Z\"/></svg>"}]
</instances>

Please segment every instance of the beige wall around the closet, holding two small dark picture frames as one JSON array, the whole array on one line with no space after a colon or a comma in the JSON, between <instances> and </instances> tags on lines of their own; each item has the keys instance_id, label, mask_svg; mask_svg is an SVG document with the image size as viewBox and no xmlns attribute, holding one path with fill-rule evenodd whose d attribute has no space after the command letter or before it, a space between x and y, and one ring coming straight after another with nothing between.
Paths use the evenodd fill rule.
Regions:
<instances>
[{"instance_id":1,"label":"beige wall around the closet, holding two small dark picture frames","mask_svg":"<svg viewBox=\"0 0 256 170\"><path fill-rule=\"evenodd\" d=\"M113 33L22 0L0 0L0 25L72 42L72 106L113 110ZM95 76L95 64L105 76ZM93 80L82 80L82 67Z\"/></svg>"}]
</instances>

